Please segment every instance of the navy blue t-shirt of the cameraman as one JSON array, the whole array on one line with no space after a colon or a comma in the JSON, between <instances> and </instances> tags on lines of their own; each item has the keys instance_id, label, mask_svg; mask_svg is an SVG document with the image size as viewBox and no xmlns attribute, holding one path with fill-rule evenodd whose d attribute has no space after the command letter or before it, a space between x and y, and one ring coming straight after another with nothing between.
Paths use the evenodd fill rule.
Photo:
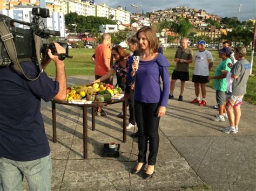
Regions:
<instances>
[{"instance_id":1,"label":"navy blue t-shirt of the cameraman","mask_svg":"<svg viewBox=\"0 0 256 191\"><path fill-rule=\"evenodd\" d=\"M32 62L21 66L30 77L38 74ZM50 101L58 93L59 83L45 72L29 81L18 75L14 66L8 66L0 68L0 89L0 157L30 161L49 155L41 98Z\"/></svg>"}]
</instances>

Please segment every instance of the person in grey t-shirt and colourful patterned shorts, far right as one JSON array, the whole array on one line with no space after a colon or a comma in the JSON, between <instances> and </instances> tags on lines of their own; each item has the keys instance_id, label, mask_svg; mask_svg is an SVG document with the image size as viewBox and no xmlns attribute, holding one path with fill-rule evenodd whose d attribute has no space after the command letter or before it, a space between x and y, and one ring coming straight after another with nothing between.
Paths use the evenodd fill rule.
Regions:
<instances>
[{"instance_id":1,"label":"person in grey t-shirt and colourful patterned shorts, far right","mask_svg":"<svg viewBox=\"0 0 256 191\"><path fill-rule=\"evenodd\" d=\"M234 57L237 62L231 69L231 77L233 82L231 88L228 88L226 97L226 110L230 126L223 130L225 133L237 133L238 124L241 117L242 98L246 94L246 83L250 75L251 63L245 59L246 48L236 47L234 49ZM227 74L226 70L222 71ZM233 112L234 111L234 112Z\"/></svg>"}]
</instances>

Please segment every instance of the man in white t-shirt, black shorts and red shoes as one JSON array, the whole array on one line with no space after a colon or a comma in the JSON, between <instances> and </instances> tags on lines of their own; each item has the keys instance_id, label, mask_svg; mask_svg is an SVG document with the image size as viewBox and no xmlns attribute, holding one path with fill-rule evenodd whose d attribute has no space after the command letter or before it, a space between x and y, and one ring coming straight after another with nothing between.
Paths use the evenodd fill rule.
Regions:
<instances>
[{"instance_id":1,"label":"man in white t-shirt, black shorts and red shoes","mask_svg":"<svg viewBox=\"0 0 256 191\"><path fill-rule=\"evenodd\" d=\"M194 73L192 77L192 82L194 82L194 91L196 98L190 103L198 103L200 106L206 105L206 87L205 84L208 83L209 70L213 66L212 54L205 49L206 42L200 40L197 43L198 51L194 56ZM203 100L200 101L200 87Z\"/></svg>"}]
</instances>

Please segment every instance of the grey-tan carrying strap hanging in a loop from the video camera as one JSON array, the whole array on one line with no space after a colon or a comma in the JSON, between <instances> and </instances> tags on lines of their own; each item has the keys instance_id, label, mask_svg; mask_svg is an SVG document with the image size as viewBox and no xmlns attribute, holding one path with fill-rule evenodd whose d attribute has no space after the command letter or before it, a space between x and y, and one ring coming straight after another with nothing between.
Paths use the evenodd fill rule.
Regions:
<instances>
[{"instance_id":1,"label":"grey-tan carrying strap hanging in a loop from the video camera","mask_svg":"<svg viewBox=\"0 0 256 191\"><path fill-rule=\"evenodd\" d=\"M30 80L30 81L34 81L37 80L38 77L40 76L40 74L43 72L42 66L41 66L41 59L40 59L40 48L41 48L41 42L42 39L41 37L35 35L35 46L36 46L36 55L37 55L37 60L38 60L38 65L39 65L39 74L38 76L36 76L35 78L30 78L28 76L25 75L21 65L19 64L18 58L17 58L17 51L16 51L16 47L14 44L14 36L12 35L12 33L10 33L8 27L6 26L4 20L0 20L0 35L1 35L1 40L4 43L6 52L8 53L8 55L10 56L10 59L12 60L12 62L14 63L14 68L16 70L17 73L23 75L26 79ZM40 46L38 48L38 46ZM38 51L39 49L39 51Z\"/></svg>"}]
</instances>

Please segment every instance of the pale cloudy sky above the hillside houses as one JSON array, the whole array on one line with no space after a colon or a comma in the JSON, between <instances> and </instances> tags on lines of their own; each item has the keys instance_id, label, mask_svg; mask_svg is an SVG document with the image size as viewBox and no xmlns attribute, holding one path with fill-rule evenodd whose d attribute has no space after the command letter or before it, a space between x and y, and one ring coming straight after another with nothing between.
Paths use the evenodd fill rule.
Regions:
<instances>
[{"instance_id":1,"label":"pale cloudy sky above the hillside houses","mask_svg":"<svg viewBox=\"0 0 256 191\"><path fill-rule=\"evenodd\" d=\"M118 5L132 13L136 12L131 4L142 5L138 8L139 12L153 12L154 10L164 10L165 8L174 8L176 6L188 6L188 8L196 8L206 10L207 13L218 15L220 17L238 17L238 4L242 4L240 12L240 21L247 19L255 19L256 1L255 0L95 0L96 4L106 3L112 8L117 8ZM129 2L129 3L127 3Z\"/></svg>"}]
</instances>

